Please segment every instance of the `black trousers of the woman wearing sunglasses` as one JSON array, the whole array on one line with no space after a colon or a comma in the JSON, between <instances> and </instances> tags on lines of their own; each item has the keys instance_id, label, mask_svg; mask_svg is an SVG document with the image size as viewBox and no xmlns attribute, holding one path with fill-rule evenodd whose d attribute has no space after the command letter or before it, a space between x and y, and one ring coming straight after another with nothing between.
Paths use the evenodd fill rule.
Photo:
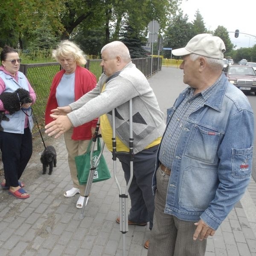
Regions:
<instances>
[{"instance_id":1,"label":"black trousers of the woman wearing sunglasses","mask_svg":"<svg viewBox=\"0 0 256 256\"><path fill-rule=\"evenodd\" d=\"M0 131L0 149L2 151L6 186L19 186L20 179L32 155L32 134L29 128L24 134Z\"/></svg>"}]
</instances>

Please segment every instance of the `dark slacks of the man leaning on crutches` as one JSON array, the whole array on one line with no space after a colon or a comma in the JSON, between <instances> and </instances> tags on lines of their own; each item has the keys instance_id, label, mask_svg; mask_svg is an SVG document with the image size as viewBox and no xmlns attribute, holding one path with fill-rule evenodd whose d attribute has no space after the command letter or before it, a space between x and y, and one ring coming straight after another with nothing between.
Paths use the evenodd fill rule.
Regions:
<instances>
[{"instance_id":1,"label":"dark slacks of the man leaning on crutches","mask_svg":"<svg viewBox=\"0 0 256 256\"><path fill-rule=\"evenodd\" d=\"M144 149L134 155L134 176L128 190L131 198L131 209L128 215L129 221L145 223L149 221L149 228L153 226L154 196L152 193L152 178L155 169L157 148L159 145ZM128 183L130 178L130 157L117 156L125 173Z\"/></svg>"}]
</instances>

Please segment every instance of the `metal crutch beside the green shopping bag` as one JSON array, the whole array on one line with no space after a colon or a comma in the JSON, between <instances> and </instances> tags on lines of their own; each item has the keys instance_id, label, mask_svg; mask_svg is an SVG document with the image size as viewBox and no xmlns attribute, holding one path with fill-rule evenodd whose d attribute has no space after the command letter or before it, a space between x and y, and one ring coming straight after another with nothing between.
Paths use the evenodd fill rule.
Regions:
<instances>
[{"instance_id":1,"label":"metal crutch beside the green shopping bag","mask_svg":"<svg viewBox=\"0 0 256 256\"><path fill-rule=\"evenodd\" d=\"M85 188L85 191L84 191L84 200L85 200L85 202L83 204L83 208L82 208L82 211L81 211L81 214L80 214L80 217L79 217L80 219L84 218L84 208L87 206L87 203L88 203L88 200L89 200L90 189L91 189L92 183L93 183L93 175L94 175L94 172L96 170L96 166L99 162L99 159L102 156L103 149L104 149L104 146L105 146L105 143L103 142L100 154L99 154L97 160L95 162L93 162L93 151L94 151L94 147L95 147L95 144L96 144L96 141L97 141L98 137L101 137L101 134L99 134L99 121L96 125L95 132L94 132L93 138L92 138L93 143L92 143L92 146L91 146L91 149L90 149L90 171L89 171L89 175L88 175L88 179L87 179L87 183L86 183L86 188Z\"/></svg>"}]
</instances>

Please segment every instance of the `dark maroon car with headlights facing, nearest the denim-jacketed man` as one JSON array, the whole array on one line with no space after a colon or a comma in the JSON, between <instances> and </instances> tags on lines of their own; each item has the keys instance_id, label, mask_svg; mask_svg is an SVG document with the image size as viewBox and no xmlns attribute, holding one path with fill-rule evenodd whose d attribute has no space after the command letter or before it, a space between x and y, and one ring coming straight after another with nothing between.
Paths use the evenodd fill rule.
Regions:
<instances>
[{"instance_id":1,"label":"dark maroon car with headlights facing, nearest the denim-jacketed man","mask_svg":"<svg viewBox=\"0 0 256 256\"><path fill-rule=\"evenodd\" d=\"M256 95L256 72L247 65L227 65L223 70L228 81L243 92L254 92Z\"/></svg>"}]
</instances>

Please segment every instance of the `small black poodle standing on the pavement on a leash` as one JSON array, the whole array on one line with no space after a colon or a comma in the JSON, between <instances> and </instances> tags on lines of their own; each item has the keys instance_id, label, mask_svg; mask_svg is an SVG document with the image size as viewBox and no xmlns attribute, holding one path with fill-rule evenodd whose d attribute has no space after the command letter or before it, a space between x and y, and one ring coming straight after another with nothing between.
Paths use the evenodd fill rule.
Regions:
<instances>
[{"instance_id":1,"label":"small black poodle standing on the pavement on a leash","mask_svg":"<svg viewBox=\"0 0 256 256\"><path fill-rule=\"evenodd\" d=\"M57 163L57 154L53 146L47 146L40 158L41 163L43 164L43 174L46 174L46 167L49 166L49 175L52 174L52 167L56 167Z\"/></svg>"}]
</instances>

